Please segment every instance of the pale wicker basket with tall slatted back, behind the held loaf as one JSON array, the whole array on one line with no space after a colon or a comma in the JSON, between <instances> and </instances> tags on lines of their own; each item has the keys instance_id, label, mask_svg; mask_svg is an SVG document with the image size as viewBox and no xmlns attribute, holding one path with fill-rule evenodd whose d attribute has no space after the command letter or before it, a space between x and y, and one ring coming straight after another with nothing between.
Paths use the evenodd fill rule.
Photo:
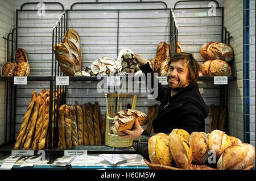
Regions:
<instances>
[{"instance_id":1,"label":"pale wicker basket with tall slatted back, behind the held loaf","mask_svg":"<svg viewBox=\"0 0 256 181\"><path fill-rule=\"evenodd\" d=\"M132 138L122 138L110 133L110 125L117 112L125 110L128 103L131 103L131 109L135 110L137 95L131 94L105 94L106 98L106 132L105 144L115 148L125 148L133 145Z\"/></svg>"}]
</instances>

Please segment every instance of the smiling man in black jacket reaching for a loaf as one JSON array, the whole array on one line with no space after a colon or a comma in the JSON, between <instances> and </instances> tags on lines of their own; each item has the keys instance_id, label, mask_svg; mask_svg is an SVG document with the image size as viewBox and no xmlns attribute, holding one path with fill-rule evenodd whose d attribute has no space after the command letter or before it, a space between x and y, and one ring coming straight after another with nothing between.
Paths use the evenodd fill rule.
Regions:
<instances>
[{"instance_id":1,"label":"smiling man in black jacket reaching for a loaf","mask_svg":"<svg viewBox=\"0 0 256 181\"><path fill-rule=\"evenodd\" d=\"M146 75L146 82L158 81L153 70L140 54L134 53L141 70ZM169 61L167 81L168 87L158 83L158 96L160 102L159 114L153 120L154 133L170 133L172 129L184 129L189 134L192 132L204 132L205 121L208 116L209 107L205 104L197 86L200 65L191 53L174 54ZM151 73L148 76L147 73ZM151 83L151 85L154 85ZM153 92L151 92L153 94ZM138 138L142 134L148 135L146 131L135 121L135 128L123 131L127 133L124 138Z\"/></svg>"}]
</instances>

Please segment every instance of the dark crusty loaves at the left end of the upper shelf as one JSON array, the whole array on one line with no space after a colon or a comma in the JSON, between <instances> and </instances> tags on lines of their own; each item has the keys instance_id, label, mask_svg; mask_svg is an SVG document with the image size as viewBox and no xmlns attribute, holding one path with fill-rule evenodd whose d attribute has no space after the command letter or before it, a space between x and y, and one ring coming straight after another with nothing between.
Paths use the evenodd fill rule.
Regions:
<instances>
[{"instance_id":1,"label":"dark crusty loaves at the left end of the upper shelf","mask_svg":"<svg viewBox=\"0 0 256 181\"><path fill-rule=\"evenodd\" d=\"M28 64L27 53L24 49L18 48L15 52L14 62L6 62L1 68L2 77L28 76L30 65Z\"/></svg>"}]
</instances>

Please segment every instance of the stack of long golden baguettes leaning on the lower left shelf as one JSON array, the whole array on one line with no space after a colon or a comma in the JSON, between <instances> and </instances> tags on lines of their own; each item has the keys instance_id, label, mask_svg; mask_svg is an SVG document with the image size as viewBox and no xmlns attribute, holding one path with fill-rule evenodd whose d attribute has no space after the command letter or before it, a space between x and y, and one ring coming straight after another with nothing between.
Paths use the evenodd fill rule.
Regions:
<instances>
[{"instance_id":1,"label":"stack of long golden baguettes leaning on the lower left shelf","mask_svg":"<svg viewBox=\"0 0 256 181\"><path fill-rule=\"evenodd\" d=\"M53 92L53 96L57 98L63 91ZM57 104L53 100L56 110ZM56 114L55 114L56 116ZM54 114L52 116L53 120ZM38 91L32 93L32 98L28 109L23 117L22 125L14 149L39 149L43 150L48 148L48 124L49 124L49 91L43 89L40 94ZM52 129L55 127L55 123L52 122ZM52 133L53 134L53 133ZM52 140L53 144L53 140Z\"/></svg>"}]
</instances>

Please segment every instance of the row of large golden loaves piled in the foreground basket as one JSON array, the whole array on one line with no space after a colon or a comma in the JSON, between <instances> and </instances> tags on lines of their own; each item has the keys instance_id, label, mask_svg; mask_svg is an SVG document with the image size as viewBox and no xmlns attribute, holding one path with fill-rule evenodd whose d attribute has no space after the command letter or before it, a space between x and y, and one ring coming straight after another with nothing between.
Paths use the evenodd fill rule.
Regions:
<instances>
[{"instance_id":1,"label":"row of large golden loaves piled in the foreground basket","mask_svg":"<svg viewBox=\"0 0 256 181\"><path fill-rule=\"evenodd\" d=\"M192 163L217 163L220 170L240 170L254 165L255 148L217 129L191 135L183 129L173 129L169 135L158 133L150 137L148 155L151 163L179 169L192 169Z\"/></svg>"}]
</instances>

